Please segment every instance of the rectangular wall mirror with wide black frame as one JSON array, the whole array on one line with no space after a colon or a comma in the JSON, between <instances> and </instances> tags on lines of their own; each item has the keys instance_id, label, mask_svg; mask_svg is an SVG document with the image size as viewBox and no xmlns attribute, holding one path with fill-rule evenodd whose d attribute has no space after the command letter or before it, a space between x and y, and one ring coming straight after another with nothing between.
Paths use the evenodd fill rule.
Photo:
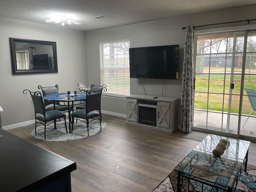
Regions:
<instances>
[{"instance_id":1,"label":"rectangular wall mirror with wide black frame","mask_svg":"<svg viewBox=\"0 0 256 192\"><path fill-rule=\"evenodd\" d=\"M12 73L58 73L56 42L10 38Z\"/></svg>"}]
</instances>

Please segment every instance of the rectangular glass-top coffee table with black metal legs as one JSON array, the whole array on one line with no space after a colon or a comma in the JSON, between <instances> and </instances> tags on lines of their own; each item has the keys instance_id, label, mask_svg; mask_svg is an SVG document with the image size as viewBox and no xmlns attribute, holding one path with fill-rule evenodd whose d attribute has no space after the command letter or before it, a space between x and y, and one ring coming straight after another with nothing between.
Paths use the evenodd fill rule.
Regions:
<instances>
[{"instance_id":1,"label":"rectangular glass-top coffee table with black metal legs","mask_svg":"<svg viewBox=\"0 0 256 192\"><path fill-rule=\"evenodd\" d=\"M226 150L220 157L214 158L212 150L220 139L227 140ZM189 191L190 185L195 191L215 188L213 191L232 192L243 167L246 172L249 145L246 140L209 134L174 168L178 172L177 192L181 189ZM186 189L184 179L188 180Z\"/></svg>"}]
</instances>

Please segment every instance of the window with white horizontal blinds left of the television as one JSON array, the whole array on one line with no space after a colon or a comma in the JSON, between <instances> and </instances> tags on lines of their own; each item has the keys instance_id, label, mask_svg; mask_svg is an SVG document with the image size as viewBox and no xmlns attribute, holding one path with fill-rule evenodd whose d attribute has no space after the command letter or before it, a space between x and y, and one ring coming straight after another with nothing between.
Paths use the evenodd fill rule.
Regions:
<instances>
[{"instance_id":1,"label":"window with white horizontal blinds left of the television","mask_svg":"<svg viewBox=\"0 0 256 192\"><path fill-rule=\"evenodd\" d=\"M108 93L130 94L130 40L100 42L101 84Z\"/></svg>"}]
</instances>

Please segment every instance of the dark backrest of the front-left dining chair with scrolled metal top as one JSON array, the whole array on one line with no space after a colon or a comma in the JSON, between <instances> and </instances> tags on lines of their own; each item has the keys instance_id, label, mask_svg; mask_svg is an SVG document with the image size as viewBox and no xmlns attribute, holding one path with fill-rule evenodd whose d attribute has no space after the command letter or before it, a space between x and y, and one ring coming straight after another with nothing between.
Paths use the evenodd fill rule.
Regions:
<instances>
[{"instance_id":1,"label":"dark backrest of the front-left dining chair with scrolled metal top","mask_svg":"<svg viewBox=\"0 0 256 192\"><path fill-rule=\"evenodd\" d=\"M32 98L35 114L40 113L43 116L45 116L44 101L43 101L41 93L39 91L31 92L30 90L25 89L23 91L23 94L27 94L27 92L30 93L30 96Z\"/></svg>"}]
</instances>

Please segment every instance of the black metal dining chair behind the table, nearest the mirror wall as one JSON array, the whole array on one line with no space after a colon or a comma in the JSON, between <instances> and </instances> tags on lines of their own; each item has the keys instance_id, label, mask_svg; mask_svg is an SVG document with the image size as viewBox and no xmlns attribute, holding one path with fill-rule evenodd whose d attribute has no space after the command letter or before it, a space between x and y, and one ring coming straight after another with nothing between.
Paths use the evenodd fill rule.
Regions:
<instances>
[{"instance_id":1,"label":"black metal dining chair behind the table, nearest the mirror wall","mask_svg":"<svg viewBox=\"0 0 256 192\"><path fill-rule=\"evenodd\" d=\"M43 96L59 93L59 88L58 88L57 84L55 86L48 86L48 87L42 87L41 85L39 85L38 89L42 90ZM51 100L44 100L44 105L46 107L46 111L54 110L53 104L54 104L54 102ZM65 103L64 103L64 105L60 105L60 102L55 102L55 110L66 111L66 110L68 110L68 106L65 105Z\"/></svg>"}]
</instances>

